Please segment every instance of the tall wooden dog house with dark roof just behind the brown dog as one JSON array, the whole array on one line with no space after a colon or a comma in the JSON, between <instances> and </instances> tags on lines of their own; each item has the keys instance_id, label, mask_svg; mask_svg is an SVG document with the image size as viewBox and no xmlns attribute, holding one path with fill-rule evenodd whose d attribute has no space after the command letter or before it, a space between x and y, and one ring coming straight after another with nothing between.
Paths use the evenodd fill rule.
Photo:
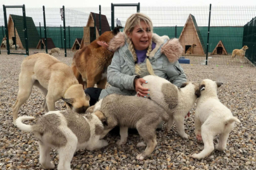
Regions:
<instances>
[{"instance_id":1,"label":"tall wooden dog house with dark roof just behind the brown dog","mask_svg":"<svg viewBox=\"0 0 256 170\"><path fill-rule=\"evenodd\" d=\"M96 35L94 22L96 24ZM83 27L83 39L80 44L80 49L83 48L84 45L89 45L99 37L99 29L99 14L91 12L88 17L87 25ZM111 29L106 15L101 14L101 33L104 33L105 31L111 31Z\"/></svg>"}]
</instances>

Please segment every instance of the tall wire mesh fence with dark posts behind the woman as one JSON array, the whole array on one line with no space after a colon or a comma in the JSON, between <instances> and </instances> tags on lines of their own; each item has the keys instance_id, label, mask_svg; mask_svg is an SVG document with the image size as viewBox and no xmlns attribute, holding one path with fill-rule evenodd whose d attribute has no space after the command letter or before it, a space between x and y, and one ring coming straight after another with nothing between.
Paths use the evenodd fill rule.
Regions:
<instances>
[{"instance_id":1,"label":"tall wire mesh fence with dark posts behind the woman","mask_svg":"<svg viewBox=\"0 0 256 170\"><path fill-rule=\"evenodd\" d=\"M154 33L158 35L168 35L169 38L183 38L183 46L185 48L183 57L189 59L190 64L249 66L250 62L255 63L253 62L255 61L256 53L256 50L253 50L253 45L255 45L253 36L255 33L252 33L255 31L255 25L253 27L255 20L251 20L256 16L256 6L234 7L212 5L211 10L209 8L210 6L150 7L143 6L142 4L140 4L140 6L121 5L114 6L114 18L111 18L111 4L109 4L108 7L101 7L101 9L99 6L86 8L69 8L66 6L63 10L63 6L59 6L59 8L49 8L46 6L45 13L43 13L43 8L26 8L27 18L32 18L32 20L28 22L30 23L28 27L32 29L28 31L29 51L30 54L34 52L46 52L47 44L48 53L51 48L58 47L61 48L59 55L73 57L73 52L75 52L76 49L71 48L76 39L80 40L86 38L85 27L88 26L87 24L91 20L91 13L93 15L101 13L101 21L106 20L107 23L105 25L102 25L100 22L102 28L99 28L99 24L96 23L99 33L100 30L103 33L104 29L107 30L113 25L116 26L116 19L121 22L122 26L125 26L125 21L130 14L140 11L141 13L147 14L152 19ZM7 11L7 18L11 15L22 16L22 13L16 12L15 9L9 9ZM92 16L92 18L99 20L98 16ZM250 23L248 23L248 21L250 21ZM190 25L191 22L193 25ZM186 25L186 23L188 23L188 25ZM3 35L2 25L4 26L3 8L0 8L1 41L5 36ZM192 27L190 28L190 26ZM89 25L88 27L90 27L90 32L97 30L93 28L94 25ZM36 30L37 33L35 33L34 30ZM208 32L209 43L207 44ZM96 33L94 34L96 35ZM197 37L194 35L197 35ZM44 45L39 44L41 41ZM219 44L220 41L221 44ZM65 42L66 52L64 47ZM195 54L185 54L187 48L193 43L197 44ZM238 58L231 59L232 51L234 49L241 49L241 47L247 43L249 49L245 56L250 62L248 62L247 59L244 59L242 63ZM11 50L15 49L11 48ZM22 50L18 48L16 51L19 52ZM212 52L216 54L212 54ZM2 47L1 54L5 53L6 48Z\"/></svg>"}]
</instances>

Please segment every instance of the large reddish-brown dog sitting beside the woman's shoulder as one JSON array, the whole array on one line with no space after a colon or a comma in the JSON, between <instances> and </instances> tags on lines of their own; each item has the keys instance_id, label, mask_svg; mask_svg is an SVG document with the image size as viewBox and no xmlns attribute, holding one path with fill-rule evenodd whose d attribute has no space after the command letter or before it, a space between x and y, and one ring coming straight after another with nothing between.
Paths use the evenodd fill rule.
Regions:
<instances>
[{"instance_id":1,"label":"large reddish-brown dog sitting beside the woman's shoulder","mask_svg":"<svg viewBox=\"0 0 256 170\"><path fill-rule=\"evenodd\" d=\"M97 40L90 45L78 50L73 57L71 65L76 79L83 87L104 89L107 83L107 67L111 64L114 52L109 51L105 45L99 42L109 44L110 40L123 28L118 26L113 31L104 32Z\"/></svg>"}]
</instances>

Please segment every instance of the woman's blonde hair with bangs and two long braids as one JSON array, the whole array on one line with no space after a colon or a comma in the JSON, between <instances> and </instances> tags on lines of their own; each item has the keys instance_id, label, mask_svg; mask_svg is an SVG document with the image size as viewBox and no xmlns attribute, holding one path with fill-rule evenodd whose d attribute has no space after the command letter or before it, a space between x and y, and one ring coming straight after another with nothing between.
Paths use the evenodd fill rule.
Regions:
<instances>
[{"instance_id":1,"label":"woman's blonde hair with bangs and two long braids","mask_svg":"<svg viewBox=\"0 0 256 170\"><path fill-rule=\"evenodd\" d=\"M151 21L151 19L149 18L149 16L145 15L145 14L142 14L142 13L135 13L135 14L132 14L127 20L126 20L126 23L125 23L125 29L124 29L124 32L125 32L125 36L126 36L126 39L127 39L127 42L129 44L128 46L128 49L130 50L131 54L133 55L133 59L135 62L137 62L137 54L135 52L135 49L133 47L133 42L130 40L130 38L127 37L127 34L128 33L131 33L133 31L133 29L135 28L135 26L140 25L140 22L141 21L144 21L147 26L149 26L150 30L153 32L153 23ZM147 71L149 71L149 74L151 75L155 75L154 74L154 70L152 68L152 65L149 61L149 54L152 50L152 40L149 44L149 47L147 49ZM136 74L140 74L142 71L142 69L140 68L140 66L138 64L135 64L135 73Z\"/></svg>"}]
</instances>

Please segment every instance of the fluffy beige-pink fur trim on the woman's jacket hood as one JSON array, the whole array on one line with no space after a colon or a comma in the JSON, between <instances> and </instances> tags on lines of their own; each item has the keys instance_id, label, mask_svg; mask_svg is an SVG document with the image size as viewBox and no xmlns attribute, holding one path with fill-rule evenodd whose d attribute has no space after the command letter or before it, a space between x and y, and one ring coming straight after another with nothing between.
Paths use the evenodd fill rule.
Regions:
<instances>
[{"instance_id":1,"label":"fluffy beige-pink fur trim on the woman's jacket hood","mask_svg":"<svg viewBox=\"0 0 256 170\"><path fill-rule=\"evenodd\" d=\"M165 40L168 40L164 43ZM179 57L183 53L183 47L180 44L180 41L177 38L169 39L168 36L164 35L160 37L159 35L153 33L152 41L155 42L155 48L149 54L149 58L154 57L155 53L161 47L161 54L166 55L169 62L173 63L179 59ZM109 50L115 52L118 48L123 47L125 45L125 33L119 32L110 42L109 42ZM164 45L163 45L164 44Z\"/></svg>"}]
</instances>

